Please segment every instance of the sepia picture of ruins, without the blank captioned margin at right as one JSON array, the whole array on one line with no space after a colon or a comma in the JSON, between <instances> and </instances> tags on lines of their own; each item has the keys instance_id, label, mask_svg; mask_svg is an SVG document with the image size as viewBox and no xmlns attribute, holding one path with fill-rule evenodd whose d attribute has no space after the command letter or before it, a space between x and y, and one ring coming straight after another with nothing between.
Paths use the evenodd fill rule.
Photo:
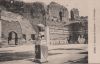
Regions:
<instances>
[{"instance_id":1,"label":"sepia picture of ruins, without the blank captioned margin at right","mask_svg":"<svg viewBox=\"0 0 100 64\"><path fill-rule=\"evenodd\" d=\"M87 0L0 0L0 64L88 64Z\"/></svg>"}]
</instances>

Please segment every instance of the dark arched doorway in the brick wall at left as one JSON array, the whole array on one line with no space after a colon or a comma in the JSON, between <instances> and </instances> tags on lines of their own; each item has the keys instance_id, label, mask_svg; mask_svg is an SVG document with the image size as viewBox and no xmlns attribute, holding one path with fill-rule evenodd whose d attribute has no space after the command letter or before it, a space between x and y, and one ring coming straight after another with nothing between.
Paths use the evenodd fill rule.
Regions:
<instances>
[{"instance_id":1,"label":"dark arched doorway in the brick wall at left","mask_svg":"<svg viewBox=\"0 0 100 64\"><path fill-rule=\"evenodd\" d=\"M18 35L16 32L14 31L11 31L9 34L8 34L8 44L10 44L10 41L14 42L15 45L18 45Z\"/></svg>"}]
</instances>

